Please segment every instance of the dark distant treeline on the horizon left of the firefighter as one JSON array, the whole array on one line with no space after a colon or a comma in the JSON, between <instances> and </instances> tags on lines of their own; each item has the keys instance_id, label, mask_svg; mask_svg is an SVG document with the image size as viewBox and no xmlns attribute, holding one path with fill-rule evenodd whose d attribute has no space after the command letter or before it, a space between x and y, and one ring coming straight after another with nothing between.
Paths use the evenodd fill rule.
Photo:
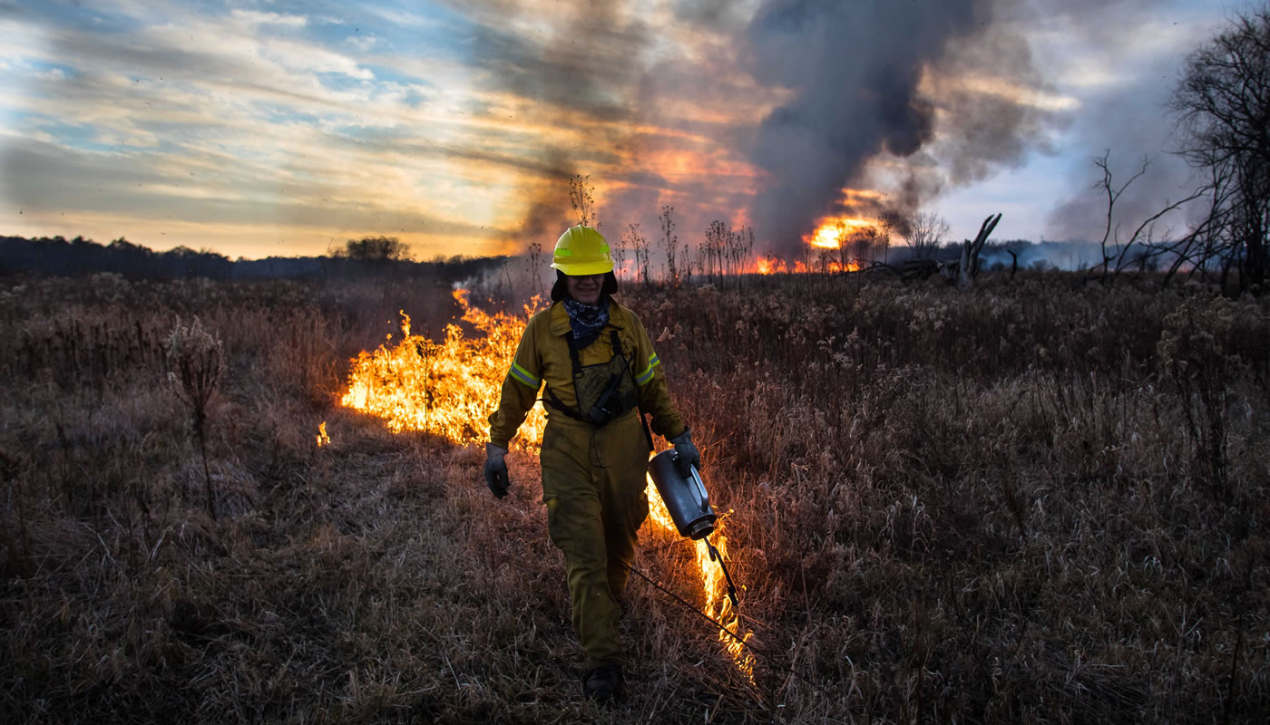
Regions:
<instances>
[{"instance_id":1,"label":"dark distant treeline on the horizon left of the firefighter","mask_svg":"<svg viewBox=\"0 0 1270 725\"><path fill-rule=\"evenodd\" d=\"M387 244L385 244L387 243ZM130 279L345 279L358 277L443 277L465 279L495 272L505 256L450 256L415 262L391 237L349 240L326 256L269 256L231 260L210 250L178 246L155 251L119 237L99 244L83 236L0 237L0 276L80 277L112 272Z\"/></svg>"}]
</instances>

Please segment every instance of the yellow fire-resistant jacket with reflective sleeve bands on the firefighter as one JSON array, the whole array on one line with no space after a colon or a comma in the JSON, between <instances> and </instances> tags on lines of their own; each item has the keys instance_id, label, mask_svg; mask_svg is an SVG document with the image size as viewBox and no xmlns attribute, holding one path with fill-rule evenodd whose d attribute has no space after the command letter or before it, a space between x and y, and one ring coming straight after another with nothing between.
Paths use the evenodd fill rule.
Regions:
<instances>
[{"instance_id":1,"label":"yellow fire-resistant jacket with reflective sleeve bands on the firefighter","mask_svg":"<svg viewBox=\"0 0 1270 725\"><path fill-rule=\"evenodd\" d=\"M665 387L665 372L657 353L653 352L653 342L649 340L644 324L635 312L610 301L608 324L601 330L596 342L578 350L582 366L605 364L612 359L610 330L617 330L622 350L627 358L634 358L630 372L639 390L640 409L653 416L653 432L665 438L683 433L683 422L676 413ZM565 339L570 331L569 312L560 302L530 317L507 380L503 381L498 410L489 416L491 443L507 448L508 441L516 436L521 423L525 423L525 416L533 406L544 382L560 402L578 408L573 386L573 361L569 358L569 343ZM564 415L551 405L546 409L549 422L555 415Z\"/></svg>"}]
</instances>

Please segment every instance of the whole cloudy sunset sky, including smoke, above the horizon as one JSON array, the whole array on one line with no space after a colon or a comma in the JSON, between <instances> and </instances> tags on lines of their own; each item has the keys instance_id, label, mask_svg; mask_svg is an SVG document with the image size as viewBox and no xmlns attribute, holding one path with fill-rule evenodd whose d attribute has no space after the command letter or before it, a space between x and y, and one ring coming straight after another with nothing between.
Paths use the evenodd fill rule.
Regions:
<instances>
[{"instance_id":1,"label":"whole cloudy sunset sky, including smoke, above the horizon","mask_svg":"<svg viewBox=\"0 0 1270 725\"><path fill-rule=\"evenodd\" d=\"M230 258L935 211L1099 239L1184 196L1166 102L1222 0L0 0L0 234ZM1185 226L1185 210L1170 223Z\"/></svg>"}]
</instances>

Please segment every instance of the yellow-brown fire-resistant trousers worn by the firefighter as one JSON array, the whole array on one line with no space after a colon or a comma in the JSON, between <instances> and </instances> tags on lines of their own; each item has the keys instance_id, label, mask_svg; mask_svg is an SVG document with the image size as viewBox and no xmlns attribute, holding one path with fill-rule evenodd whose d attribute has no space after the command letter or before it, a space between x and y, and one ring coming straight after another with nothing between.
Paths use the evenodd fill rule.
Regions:
<instances>
[{"instance_id":1,"label":"yellow-brown fire-resistant trousers worn by the firefighter","mask_svg":"<svg viewBox=\"0 0 1270 725\"><path fill-rule=\"evenodd\" d=\"M542 502L564 552L573 630L587 668L621 665L618 601L648 517L648 446L635 411L594 429L556 414L542 434Z\"/></svg>"}]
</instances>

